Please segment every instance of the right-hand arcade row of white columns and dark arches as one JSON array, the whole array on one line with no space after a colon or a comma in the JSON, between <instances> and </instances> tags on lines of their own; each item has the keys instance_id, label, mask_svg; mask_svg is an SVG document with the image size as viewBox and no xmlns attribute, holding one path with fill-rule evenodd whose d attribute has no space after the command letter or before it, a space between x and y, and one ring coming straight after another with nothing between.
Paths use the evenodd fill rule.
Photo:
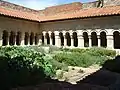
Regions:
<instances>
[{"instance_id":1,"label":"right-hand arcade row of white columns and dark arches","mask_svg":"<svg viewBox=\"0 0 120 90\"><path fill-rule=\"evenodd\" d=\"M107 30L97 30L83 32L78 30L72 31L55 31L55 32L43 32L42 43L48 45L65 46L65 47L105 47L120 49L120 33L119 31L112 31L111 35L108 35Z\"/></svg>"}]
</instances>

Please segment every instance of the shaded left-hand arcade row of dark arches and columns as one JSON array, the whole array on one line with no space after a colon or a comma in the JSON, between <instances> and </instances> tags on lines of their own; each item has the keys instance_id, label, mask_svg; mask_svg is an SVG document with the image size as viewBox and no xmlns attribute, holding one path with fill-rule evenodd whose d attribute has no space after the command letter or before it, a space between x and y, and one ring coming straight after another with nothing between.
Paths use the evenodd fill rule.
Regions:
<instances>
[{"instance_id":1,"label":"shaded left-hand arcade row of dark arches and columns","mask_svg":"<svg viewBox=\"0 0 120 90\"><path fill-rule=\"evenodd\" d=\"M23 36L22 36L23 35ZM28 33L25 32L7 32L6 30L3 31L1 35L1 45L2 46L12 46L12 45L38 45L39 44L39 37L36 33ZM23 39L22 39L23 38Z\"/></svg>"}]
</instances>

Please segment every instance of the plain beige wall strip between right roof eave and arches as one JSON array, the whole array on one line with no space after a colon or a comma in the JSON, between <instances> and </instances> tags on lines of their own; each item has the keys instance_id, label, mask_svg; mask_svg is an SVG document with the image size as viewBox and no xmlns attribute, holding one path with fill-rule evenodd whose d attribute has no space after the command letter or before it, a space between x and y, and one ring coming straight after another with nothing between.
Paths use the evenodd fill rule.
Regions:
<instances>
[{"instance_id":1,"label":"plain beige wall strip between right roof eave and arches","mask_svg":"<svg viewBox=\"0 0 120 90\"><path fill-rule=\"evenodd\" d=\"M119 16L64 20L41 23L41 30L89 30L89 29L120 29Z\"/></svg>"}]
</instances>

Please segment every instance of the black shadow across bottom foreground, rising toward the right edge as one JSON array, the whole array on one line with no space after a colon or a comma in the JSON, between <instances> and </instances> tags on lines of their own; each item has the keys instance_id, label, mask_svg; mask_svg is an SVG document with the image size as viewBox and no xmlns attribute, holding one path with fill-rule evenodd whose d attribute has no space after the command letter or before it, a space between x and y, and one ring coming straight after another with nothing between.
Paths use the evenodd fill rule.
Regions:
<instances>
[{"instance_id":1,"label":"black shadow across bottom foreground, rising toward the right edge","mask_svg":"<svg viewBox=\"0 0 120 90\"><path fill-rule=\"evenodd\" d=\"M97 72L73 85L68 82L47 79L34 87L12 90L120 90L120 56L107 60Z\"/></svg>"}]
</instances>

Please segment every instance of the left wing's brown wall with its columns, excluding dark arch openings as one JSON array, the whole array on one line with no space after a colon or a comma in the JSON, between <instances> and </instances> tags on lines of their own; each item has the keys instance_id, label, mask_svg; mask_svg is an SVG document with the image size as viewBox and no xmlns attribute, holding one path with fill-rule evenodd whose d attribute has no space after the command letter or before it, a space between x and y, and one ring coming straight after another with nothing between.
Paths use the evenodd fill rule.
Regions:
<instances>
[{"instance_id":1,"label":"left wing's brown wall with its columns, excluding dark arch openings","mask_svg":"<svg viewBox=\"0 0 120 90\"><path fill-rule=\"evenodd\" d=\"M28 33L29 36L31 35L31 33L33 33L34 36L38 34L39 38L40 38L40 33L42 32L40 31L40 24L38 22L32 22L28 20L14 19L10 17L0 16L0 46L3 44L4 31L8 33L7 35L8 38L11 32L14 32L15 36L18 34L18 32L20 32L21 33L21 45L25 45L24 40L25 40L26 32ZM30 41L30 38L29 38L29 41ZM9 41L8 41L8 44L9 44Z\"/></svg>"}]
</instances>

